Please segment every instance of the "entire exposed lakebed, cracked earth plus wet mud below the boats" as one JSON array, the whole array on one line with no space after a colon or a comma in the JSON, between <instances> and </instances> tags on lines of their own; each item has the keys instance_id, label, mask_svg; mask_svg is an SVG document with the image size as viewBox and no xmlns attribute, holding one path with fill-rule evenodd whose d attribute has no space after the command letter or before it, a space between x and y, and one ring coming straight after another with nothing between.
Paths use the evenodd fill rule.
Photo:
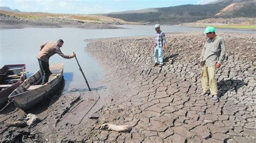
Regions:
<instances>
[{"instance_id":1,"label":"entire exposed lakebed, cracked earth plus wet mud below the boats","mask_svg":"<svg viewBox=\"0 0 256 143\"><path fill-rule=\"evenodd\" d=\"M56 94L37 110L9 106L2 141L255 142L255 34L221 33L226 61L217 70L220 101L200 96L198 58L205 35L168 34L164 66L153 67L152 37L91 40L86 51L108 74L92 91ZM40 110L39 110L40 109ZM33 126L10 126L34 113ZM130 125L127 133L99 130ZM9 125L9 126L8 126Z\"/></svg>"}]
</instances>

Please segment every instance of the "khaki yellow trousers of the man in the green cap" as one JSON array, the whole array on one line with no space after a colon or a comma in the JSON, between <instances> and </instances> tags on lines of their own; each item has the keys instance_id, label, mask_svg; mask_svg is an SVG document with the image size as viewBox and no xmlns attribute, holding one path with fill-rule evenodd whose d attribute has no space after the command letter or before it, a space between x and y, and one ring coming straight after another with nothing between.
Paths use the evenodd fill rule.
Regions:
<instances>
[{"instance_id":1,"label":"khaki yellow trousers of the man in the green cap","mask_svg":"<svg viewBox=\"0 0 256 143\"><path fill-rule=\"evenodd\" d=\"M212 95L218 94L217 81L215 79L216 67L207 67L205 64L202 68L201 83L205 92L211 92Z\"/></svg>"}]
</instances>

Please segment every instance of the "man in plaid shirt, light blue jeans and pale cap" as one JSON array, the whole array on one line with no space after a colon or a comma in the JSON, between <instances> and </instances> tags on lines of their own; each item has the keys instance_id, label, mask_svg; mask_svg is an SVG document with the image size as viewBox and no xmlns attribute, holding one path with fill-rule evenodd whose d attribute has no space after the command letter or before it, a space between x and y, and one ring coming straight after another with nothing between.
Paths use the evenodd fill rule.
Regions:
<instances>
[{"instance_id":1,"label":"man in plaid shirt, light blue jeans and pale cap","mask_svg":"<svg viewBox=\"0 0 256 143\"><path fill-rule=\"evenodd\" d=\"M163 51L165 48L165 34L163 31L160 30L160 25L156 24L154 26L156 33L154 34L154 42L153 42L153 52L154 52L154 66L158 65L158 59L159 59L159 65L158 67L163 66Z\"/></svg>"}]
</instances>

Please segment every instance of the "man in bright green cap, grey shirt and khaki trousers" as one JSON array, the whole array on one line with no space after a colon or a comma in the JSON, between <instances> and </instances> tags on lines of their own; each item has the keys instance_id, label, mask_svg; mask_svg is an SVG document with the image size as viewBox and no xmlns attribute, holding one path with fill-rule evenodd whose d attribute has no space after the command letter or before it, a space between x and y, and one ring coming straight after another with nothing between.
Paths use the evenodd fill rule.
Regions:
<instances>
[{"instance_id":1,"label":"man in bright green cap, grey shirt and khaki trousers","mask_svg":"<svg viewBox=\"0 0 256 143\"><path fill-rule=\"evenodd\" d=\"M219 97L215 71L225 59L224 39L216 35L215 29L211 26L206 27L203 33L206 34L207 40L199 59L199 64L203 66L201 71L203 92L200 95L211 93L213 101L218 102Z\"/></svg>"}]
</instances>

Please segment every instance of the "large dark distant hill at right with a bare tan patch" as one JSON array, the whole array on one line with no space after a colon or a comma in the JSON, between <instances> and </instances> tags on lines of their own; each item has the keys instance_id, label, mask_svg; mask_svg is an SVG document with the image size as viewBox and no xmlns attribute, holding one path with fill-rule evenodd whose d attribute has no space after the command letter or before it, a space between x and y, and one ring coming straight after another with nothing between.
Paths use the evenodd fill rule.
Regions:
<instances>
[{"instance_id":1,"label":"large dark distant hill at right with a bare tan patch","mask_svg":"<svg viewBox=\"0 0 256 143\"><path fill-rule=\"evenodd\" d=\"M204 5L179 5L151 9L150 12L127 11L104 16L142 23L191 23L207 18L256 17L256 0L223 0Z\"/></svg>"}]
</instances>

